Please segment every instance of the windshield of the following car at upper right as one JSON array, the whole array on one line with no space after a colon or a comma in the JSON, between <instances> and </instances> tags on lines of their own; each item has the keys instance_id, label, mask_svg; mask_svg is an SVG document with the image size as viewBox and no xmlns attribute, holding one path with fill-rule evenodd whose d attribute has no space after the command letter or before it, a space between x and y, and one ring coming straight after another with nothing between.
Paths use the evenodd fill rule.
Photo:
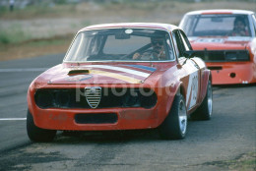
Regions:
<instances>
[{"instance_id":1,"label":"windshield of the following car at upper right","mask_svg":"<svg viewBox=\"0 0 256 171\"><path fill-rule=\"evenodd\" d=\"M252 36L246 15L187 15L180 27L187 36Z\"/></svg>"}]
</instances>

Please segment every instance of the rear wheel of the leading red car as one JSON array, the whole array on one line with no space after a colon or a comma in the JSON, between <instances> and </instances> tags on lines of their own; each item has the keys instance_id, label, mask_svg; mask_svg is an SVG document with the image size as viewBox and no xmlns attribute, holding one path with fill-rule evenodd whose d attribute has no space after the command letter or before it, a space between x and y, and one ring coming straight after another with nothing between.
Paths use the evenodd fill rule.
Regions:
<instances>
[{"instance_id":1,"label":"rear wheel of the leading red car","mask_svg":"<svg viewBox=\"0 0 256 171\"><path fill-rule=\"evenodd\" d=\"M210 120L213 113L213 90L212 82L209 80L206 96L198 109L191 114L193 120Z\"/></svg>"}]
</instances>

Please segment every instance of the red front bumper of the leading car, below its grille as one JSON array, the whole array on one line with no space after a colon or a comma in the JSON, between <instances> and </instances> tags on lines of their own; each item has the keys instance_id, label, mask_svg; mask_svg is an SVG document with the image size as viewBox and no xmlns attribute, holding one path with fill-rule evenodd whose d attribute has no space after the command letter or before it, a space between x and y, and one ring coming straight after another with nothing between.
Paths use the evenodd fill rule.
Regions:
<instances>
[{"instance_id":1,"label":"red front bumper of the leading car, below its grille","mask_svg":"<svg viewBox=\"0 0 256 171\"><path fill-rule=\"evenodd\" d=\"M115 108L115 109L35 109L31 111L34 124L49 130L104 131L151 129L160 125L165 118L159 116L158 109ZM77 123L77 114L116 114L115 123Z\"/></svg>"}]
</instances>

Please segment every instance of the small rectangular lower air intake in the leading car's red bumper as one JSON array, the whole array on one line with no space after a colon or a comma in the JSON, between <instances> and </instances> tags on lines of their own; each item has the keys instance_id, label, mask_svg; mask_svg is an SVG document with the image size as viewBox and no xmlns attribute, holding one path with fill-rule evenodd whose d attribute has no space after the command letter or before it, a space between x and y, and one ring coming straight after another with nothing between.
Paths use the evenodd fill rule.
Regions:
<instances>
[{"instance_id":1,"label":"small rectangular lower air intake in the leading car's red bumper","mask_svg":"<svg viewBox=\"0 0 256 171\"><path fill-rule=\"evenodd\" d=\"M114 124L117 122L117 115L115 113L76 114L75 121L78 124Z\"/></svg>"}]
</instances>

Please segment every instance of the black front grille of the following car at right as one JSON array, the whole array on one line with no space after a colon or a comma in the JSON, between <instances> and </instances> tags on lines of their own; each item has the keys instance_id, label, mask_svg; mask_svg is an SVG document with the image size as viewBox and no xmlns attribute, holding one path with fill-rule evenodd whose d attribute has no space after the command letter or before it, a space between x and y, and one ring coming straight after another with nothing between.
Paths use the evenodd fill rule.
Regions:
<instances>
[{"instance_id":1,"label":"black front grille of the following car at right","mask_svg":"<svg viewBox=\"0 0 256 171\"><path fill-rule=\"evenodd\" d=\"M197 57L206 62L249 61L247 50L194 50Z\"/></svg>"}]
</instances>

